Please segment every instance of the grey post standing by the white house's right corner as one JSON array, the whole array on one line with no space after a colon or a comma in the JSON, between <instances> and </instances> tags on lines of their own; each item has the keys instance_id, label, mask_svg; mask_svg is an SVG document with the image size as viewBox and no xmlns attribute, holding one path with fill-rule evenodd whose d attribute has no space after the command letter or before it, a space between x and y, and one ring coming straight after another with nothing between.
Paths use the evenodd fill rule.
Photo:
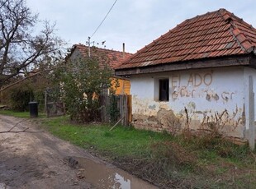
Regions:
<instances>
[{"instance_id":1,"label":"grey post standing by the white house's right corner","mask_svg":"<svg viewBox=\"0 0 256 189\"><path fill-rule=\"evenodd\" d=\"M255 126L254 126L254 80L249 76L249 147L255 148Z\"/></svg>"}]
</instances>

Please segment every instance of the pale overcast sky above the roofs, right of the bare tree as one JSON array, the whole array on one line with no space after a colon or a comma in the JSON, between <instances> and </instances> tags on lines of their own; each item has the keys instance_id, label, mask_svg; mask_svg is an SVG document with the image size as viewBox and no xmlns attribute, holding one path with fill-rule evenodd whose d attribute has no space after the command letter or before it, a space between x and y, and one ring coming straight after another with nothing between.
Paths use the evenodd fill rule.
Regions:
<instances>
[{"instance_id":1,"label":"pale overcast sky above the roofs, right of the bare tree","mask_svg":"<svg viewBox=\"0 0 256 189\"><path fill-rule=\"evenodd\" d=\"M40 19L56 22L55 32L68 43L85 44L115 0L26 0ZM225 8L256 27L255 0L117 0L91 41L101 48L135 53L176 25ZM97 44L98 43L98 44Z\"/></svg>"}]
</instances>

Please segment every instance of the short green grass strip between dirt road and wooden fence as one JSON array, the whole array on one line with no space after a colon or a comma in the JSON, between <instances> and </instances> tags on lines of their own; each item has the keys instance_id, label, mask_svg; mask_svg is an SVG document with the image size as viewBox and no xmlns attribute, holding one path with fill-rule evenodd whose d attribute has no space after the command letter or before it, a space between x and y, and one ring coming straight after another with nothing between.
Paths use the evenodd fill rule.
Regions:
<instances>
[{"instance_id":1,"label":"short green grass strip between dirt road and wooden fence","mask_svg":"<svg viewBox=\"0 0 256 189\"><path fill-rule=\"evenodd\" d=\"M137 131L130 127L115 127L109 131L109 125L75 126L68 123L67 118L48 119L44 124L55 136L83 148L94 148L114 158L148 157L150 143L171 138L153 131Z\"/></svg>"}]
</instances>

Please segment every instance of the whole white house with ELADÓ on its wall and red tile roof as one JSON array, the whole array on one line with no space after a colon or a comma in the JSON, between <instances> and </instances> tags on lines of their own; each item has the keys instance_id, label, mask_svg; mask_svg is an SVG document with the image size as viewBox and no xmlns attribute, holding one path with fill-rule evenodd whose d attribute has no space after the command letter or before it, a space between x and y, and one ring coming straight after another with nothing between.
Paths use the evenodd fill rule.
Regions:
<instances>
[{"instance_id":1,"label":"whole white house with ELAD\u00d3 on its wall and red tile roof","mask_svg":"<svg viewBox=\"0 0 256 189\"><path fill-rule=\"evenodd\" d=\"M218 129L247 138L256 30L220 9L183 21L116 68L130 76L135 127Z\"/></svg>"}]
</instances>

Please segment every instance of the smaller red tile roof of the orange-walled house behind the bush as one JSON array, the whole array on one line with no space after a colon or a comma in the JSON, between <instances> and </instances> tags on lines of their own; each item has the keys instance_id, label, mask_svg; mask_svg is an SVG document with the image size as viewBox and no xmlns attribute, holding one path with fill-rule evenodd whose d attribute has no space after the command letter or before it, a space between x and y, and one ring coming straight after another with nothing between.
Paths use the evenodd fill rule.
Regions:
<instances>
[{"instance_id":1,"label":"smaller red tile roof of the orange-walled house behind the bush","mask_svg":"<svg viewBox=\"0 0 256 189\"><path fill-rule=\"evenodd\" d=\"M88 46L85 46L83 44L74 44L71 50L71 53L73 53L73 51L76 48L80 53L82 53L84 57L88 57ZM90 54L91 54L91 57L97 57L97 58L102 58L107 56L107 61L109 62L109 66L113 69L116 68L118 65L120 65L121 62L125 61L126 58L130 58L132 55L131 53L123 54L123 52L120 52L120 51L110 50L106 48L97 48L95 46L92 46L90 48ZM71 56L71 54L69 56Z\"/></svg>"}]
</instances>

